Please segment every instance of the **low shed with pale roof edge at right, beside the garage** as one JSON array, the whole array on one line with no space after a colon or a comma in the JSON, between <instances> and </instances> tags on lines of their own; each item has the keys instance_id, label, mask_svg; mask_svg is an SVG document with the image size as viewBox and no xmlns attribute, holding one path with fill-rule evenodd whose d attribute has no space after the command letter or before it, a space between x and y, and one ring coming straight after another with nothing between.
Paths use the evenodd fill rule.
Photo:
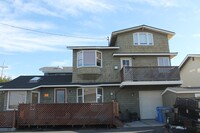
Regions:
<instances>
[{"instance_id":1,"label":"low shed with pale roof edge at right, beside the garage","mask_svg":"<svg viewBox=\"0 0 200 133\"><path fill-rule=\"evenodd\" d=\"M177 97L200 97L200 87L169 87L162 94L163 105L173 107Z\"/></svg>"}]
</instances>

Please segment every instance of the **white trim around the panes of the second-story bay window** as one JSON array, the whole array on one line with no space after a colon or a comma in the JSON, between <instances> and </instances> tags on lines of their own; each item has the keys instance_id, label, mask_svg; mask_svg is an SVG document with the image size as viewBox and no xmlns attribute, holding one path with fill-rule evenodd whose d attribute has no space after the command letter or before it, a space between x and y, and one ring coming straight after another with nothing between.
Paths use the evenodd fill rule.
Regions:
<instances>
[{"instance_id":1,"label":"white trim around the panes of the second-story bay window","mask_svg":"<svg viewBox=\"0 0 200 133\"><path fill-rule=\"evenodd\" d=\"M79 53L81 53L81 56L82 56L82 65L84 64L84 51L95 51L95 66L78 66L78 54ZM97 66L97 52L99 52L99 53L101 53L101 66ZM77 66L77 68L81 68L81 67L100 67L100 68L102 68L102 66L103 66L103 58L102 58L102 52L101 51L98 51L98 50L81 50L81 51L79 51L79 52L77 52L77 59L76 59L76 66Z\"/></svg>"}]
</instances>

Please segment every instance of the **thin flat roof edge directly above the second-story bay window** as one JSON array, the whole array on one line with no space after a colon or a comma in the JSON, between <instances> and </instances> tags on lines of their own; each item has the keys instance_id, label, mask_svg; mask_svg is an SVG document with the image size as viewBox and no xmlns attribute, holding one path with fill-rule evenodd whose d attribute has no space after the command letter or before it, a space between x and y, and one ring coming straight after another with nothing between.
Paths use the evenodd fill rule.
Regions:
<instances>
[{"instance_id":1,"label":"thin flat roof edge directly above the second-story bay window","mask_svg":"<svg viewBox=\"0 0 200 133\"><path fill-rule=\"evenodd\" d=\"M119 47L108 47L108 46L68 46L68 49L83 49L83 50L95 50L95 49L119 49Z\"/></svg>"}]
</instances>

